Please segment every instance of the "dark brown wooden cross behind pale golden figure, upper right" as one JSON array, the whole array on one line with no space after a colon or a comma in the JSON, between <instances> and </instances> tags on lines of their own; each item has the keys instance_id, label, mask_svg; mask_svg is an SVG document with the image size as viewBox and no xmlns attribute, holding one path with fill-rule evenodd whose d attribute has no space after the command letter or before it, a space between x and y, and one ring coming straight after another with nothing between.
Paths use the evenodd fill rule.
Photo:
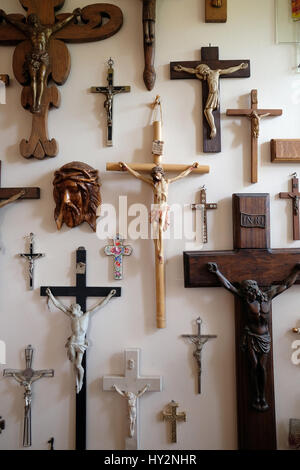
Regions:
<instances>
[{"instance_id":1,"label":"dark brown wooden cross behind pale golden figure, upper right","mask_svg":"<svg viewBox=\"0 0 300 470\"><path fill-rule=\"evenodd\" d=\"M207 65L212 72L222 70L223 73L219 75L219 78L242 78L250 77L250 61L249 60L219 60L219 48L218 47L202 47L201 48L201 60L200 61L188 61L188 62L171 62L170 64L170 75L171 80L180 79L201 79L202 81L202 101L204 114L206 113L207 107L212 110L214 119L214 126L216 129L215 137L211 138L211 127L208 124L207 119L203 118L203 152L205 153L216 153L221 152L221 125L220 125L220 103L219 103L219 80L217 83L209 86L206 79L203 79L203 75L196 71L196 68L200 65ZM232 68L247 64L247 68L242 68L231 72ZM190 72L184 70L178 71L175 68L181 66L190 69ZM195 70L195 72L192 72ZM218 77L217 77L218 79ZM212 88L215 90L213 96Z\"/></svg>"}]
</instances>

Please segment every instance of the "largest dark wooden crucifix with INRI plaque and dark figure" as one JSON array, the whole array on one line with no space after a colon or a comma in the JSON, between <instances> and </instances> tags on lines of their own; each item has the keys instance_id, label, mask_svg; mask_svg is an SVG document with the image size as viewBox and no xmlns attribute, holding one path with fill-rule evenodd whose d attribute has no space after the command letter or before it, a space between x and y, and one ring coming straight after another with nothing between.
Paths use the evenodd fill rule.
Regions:
<instances>
[{"instance_id":1,"label":"largest dark wooden crucifix with INRI plaque and dark figure","mask_svg":"<svg viewBox=\"0 0 300 470\"><path fill-rule=\"evenodd\" d=\"M239 448L276 449L272 299L300 283L300 249L270 249L269 194L233 195L233 234L234 251L184 253L185 287L234 294Z\"/></svg>"}]
</instances>

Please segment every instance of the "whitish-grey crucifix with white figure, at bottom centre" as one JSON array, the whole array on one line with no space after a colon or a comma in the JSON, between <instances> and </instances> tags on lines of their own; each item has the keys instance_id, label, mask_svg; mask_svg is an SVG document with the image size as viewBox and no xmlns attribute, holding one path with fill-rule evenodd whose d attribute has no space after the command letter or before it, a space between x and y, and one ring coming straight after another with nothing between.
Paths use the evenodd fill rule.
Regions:
<instances>
[{"instance_id":1,"label":"whitish-grey crucifix with white figure, at bottom centre","mask_svg":"<svg viewBox=\"0 0 300 470\"><path fill-rule=\"evenodd\" d=\"M140 349L125 349L124 362L125 375L103 377L103 390L117 391L128 400L129 437L125 449L137 450L140 447L139 397L145 392L161 392L162 377L140 376Z\"/></svg>"}]
</instances>

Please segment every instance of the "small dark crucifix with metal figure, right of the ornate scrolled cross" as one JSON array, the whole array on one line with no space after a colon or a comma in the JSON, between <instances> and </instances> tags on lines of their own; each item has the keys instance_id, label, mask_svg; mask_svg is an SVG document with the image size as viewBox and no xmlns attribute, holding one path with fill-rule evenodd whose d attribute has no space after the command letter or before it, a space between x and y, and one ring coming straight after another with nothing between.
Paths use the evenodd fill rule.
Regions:
<instances>
[{"instance_id":1,"label":"small dark crucifix with metal figure, right of the ornate scrolled cross","mask_svg":"<svg viewBox=\"0 0 300 470\"><path fill-rule=\"evenodd\" d=\"M130 86L114 86L114 61L112 58L108 61L108 71L107 71L107 82L108 86L93 86L91 88L92 93L102 93L106 96L104 101L104 108L106 109L107 114L107 147L112 147L113 145L113 102L114 96L119 93L129 93Z\"/></svg>"}]
</instances>

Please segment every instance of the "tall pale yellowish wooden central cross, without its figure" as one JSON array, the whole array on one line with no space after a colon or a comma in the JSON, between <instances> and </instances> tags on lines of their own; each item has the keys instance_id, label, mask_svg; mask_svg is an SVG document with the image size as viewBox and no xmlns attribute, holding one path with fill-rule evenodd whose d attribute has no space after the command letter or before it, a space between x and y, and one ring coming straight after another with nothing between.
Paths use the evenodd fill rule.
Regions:
<instances>
[{"instance_id":1,"label":"tall pale yellowish wooden central cross, without its figure","mask_svg":"<svg viewBox=\"0 0 300 470\"><path fill-rule=\"evenodd\" d=\"M156 98L154 103L155 106L160 105L159 97ZM153 180L150 178L143 177L139 175L140 172L148 172L151 175L151 172L154 168L162 168L163 171L180 171L180 175L176 178L166 180L164 177L165 184L169 184L170 182L176 181L176 179L182 178L188 175L191 171L197 174L203 174L209 172L209 166L200 166L192 167L188 165L177 165L177 164L162 164L162 152L159 151L162 145L162 137L161 137L161 121L154 121L153 122L153 129L154 129L154 150L153 150L153 163L135 163L135 164L126 164L124 168L123 163L107 163L106 170L107 171L124 171L127 169L133 176L138 179L141 179L143 182L147 182L152 185L153 190L155 190L155 186L153 184ZM154 194L154 205L156 207L159 205L156 201L156 197ZM158 208L159 209L159 208ZM164 210L167 211L166 204L164 205ZM166 214L167 219L167 214ZM166 222L165 219L165 222ZM162 225L165 225L162 224ZM160 232L161 235L161 232ZM162 236L156 237L154 239L155 243L155 274L156 274L156 320L157 320L157 328L165 328L166 326L166 317L165 317L165 274L164 274L164 257L163 257L163 240Z\"/></svg>"}]
</instances>

